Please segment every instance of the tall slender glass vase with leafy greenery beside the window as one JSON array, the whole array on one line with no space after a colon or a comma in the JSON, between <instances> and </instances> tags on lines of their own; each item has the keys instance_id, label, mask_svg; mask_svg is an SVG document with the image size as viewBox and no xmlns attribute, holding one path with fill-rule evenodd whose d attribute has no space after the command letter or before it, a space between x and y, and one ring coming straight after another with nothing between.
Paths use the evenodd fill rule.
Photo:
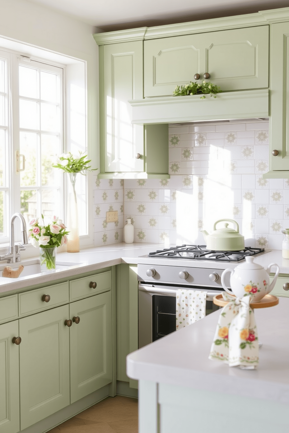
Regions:
<instances>
[{"instance_id":1,"label":"tall slender glass vase with leafy greenery beside the window","mask_svg":"<svg viewBox=\"0 0 289 433\"><path fill-rule=\"evenodd\" d=\"M79 157L68 152L60 155L57 163L52 165L52 167L61 168L65 173L68 173L69 178L66 218L66 224L69 229L67 252L79 251L78 204L75 182L78 173L85 175L86 171L96 170L96 168L91 168L91 165L88 165L90 162L91 159L87 159L87 155L83 155L83 152L79 152Z\"/></svg>"}]
</instances>

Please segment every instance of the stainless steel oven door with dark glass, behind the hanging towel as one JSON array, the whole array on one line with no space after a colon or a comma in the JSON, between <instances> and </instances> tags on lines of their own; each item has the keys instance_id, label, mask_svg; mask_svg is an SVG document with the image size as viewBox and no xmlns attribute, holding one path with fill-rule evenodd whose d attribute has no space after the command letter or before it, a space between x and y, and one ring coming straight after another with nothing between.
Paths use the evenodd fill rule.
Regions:
<instances>
[{"instance_id":1,"label":"stainless steel oven door with dark glass, behind the hanging towel","mask_svg":"<svg viewBox=\"0 0 289 433\"><path fill-rule=\"evenodd\" d=\"M208 292L206 315L218 310L212 301L216 290L200 290ZM175 331L176 291L173 286L139 283L139 349Z\"/></svg>"}]
</instances>

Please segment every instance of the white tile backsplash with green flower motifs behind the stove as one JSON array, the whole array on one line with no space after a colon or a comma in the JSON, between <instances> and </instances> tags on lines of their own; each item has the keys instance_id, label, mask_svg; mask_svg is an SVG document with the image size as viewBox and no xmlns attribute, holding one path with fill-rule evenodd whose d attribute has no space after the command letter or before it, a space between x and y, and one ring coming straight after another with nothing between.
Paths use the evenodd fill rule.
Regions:
<instances>
[{"instance_id":1,"label":"white tile backsplash with green flower motifs behind the stove","mask_svg":"<svg viewBox=\"0 0 289 433\"><path fill-rule=\"evenodd\" d=\"M94 243L122 242L133 219L135 242L204 244L218 219L239 224L247 246L281 249L289 227L289 180L269 169L269 123L169 125L170 179L96 179ZM105 223L107 210L119 221ZM220 226L222 223L219 223Z\"/></svg>"}]
</instances>

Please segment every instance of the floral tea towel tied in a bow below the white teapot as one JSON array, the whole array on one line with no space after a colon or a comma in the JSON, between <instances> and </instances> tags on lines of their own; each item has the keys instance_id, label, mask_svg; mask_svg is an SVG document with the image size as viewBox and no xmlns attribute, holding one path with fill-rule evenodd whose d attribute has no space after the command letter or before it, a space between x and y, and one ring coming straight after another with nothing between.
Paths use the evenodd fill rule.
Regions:
<instances>
[{"instance_id":1,"label":"floral tea towel tied in a bow below the white teapot","mask_svg":"<svg viewBox=\"0 0 289 433\"><path fill-rule=\"evenodd\" d=\"M259 362L259 344L250 295L236 298L223 293L223 298L229 302L221 310L209 359L253 368Z\"/></svg>"}]
</instances>

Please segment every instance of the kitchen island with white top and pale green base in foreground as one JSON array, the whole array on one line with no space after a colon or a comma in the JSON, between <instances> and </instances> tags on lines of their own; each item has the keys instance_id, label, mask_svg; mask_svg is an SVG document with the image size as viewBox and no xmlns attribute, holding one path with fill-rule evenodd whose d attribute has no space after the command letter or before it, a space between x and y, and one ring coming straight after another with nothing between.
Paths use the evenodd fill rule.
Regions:
<instances>
[{"instance_id":1,"label":"kitchen island with white top and pale green base in foreground","mask_svg":"<svg viewBox=\"0 0 289 433\"><path fill-rule=\"evenodd\" d=\"M139 433L289 431L289 299L255 310L256 370L208 355L220 312L127 356L139 380Z\"/></svg>"}]
</instances>

